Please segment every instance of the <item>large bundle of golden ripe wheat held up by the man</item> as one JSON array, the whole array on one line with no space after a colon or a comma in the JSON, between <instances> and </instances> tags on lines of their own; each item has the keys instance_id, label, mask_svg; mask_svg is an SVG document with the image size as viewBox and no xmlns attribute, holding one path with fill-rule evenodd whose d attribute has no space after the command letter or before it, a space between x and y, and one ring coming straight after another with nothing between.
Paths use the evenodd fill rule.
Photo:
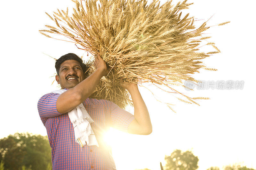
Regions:
<instances>
[{"instance_id":1,"label":"large bundle of golden ripe wheat held up by the man","mask_svg":"<svg viewBox=\"0 0 256 170\"><path fill-rule=\"evenodd\" d=\"M73 42L92 55L99 52L112 68L108 76L101 78L91 98L110 100L121 108L132 104L129 93L120 87L120 80L124 80L141 85L150 82L159 88L166 86L170 89L166 92L178 93L185 99L178 100L185 103L197 104L194 100L208 99L190 98L173 89L175 85L184 86L184 80L197 83L189 74L199 72L202 67L216 70L205 68L200 61L220 52L214 43L206 40L211 37L201 34L210 28L206 26L207 21L196 29L194 17L186 14L181 18L181 10L193 3L186 4L185 0L175 6L171 2L160 6L157 0L150 4L147 0L73 2L76 7L72 14L68 8L66 11L58 9L52 16L46 13L56 26L45 25L48 30L39 31L54 39L58 38L49 33L58 34L64 38L62 40ZM201 41L207 41L205 45L211 45L217 51L196 52ZM95 69L92 63L87 63L90 65L89 75Z\"/></svg>"}]
</instances>

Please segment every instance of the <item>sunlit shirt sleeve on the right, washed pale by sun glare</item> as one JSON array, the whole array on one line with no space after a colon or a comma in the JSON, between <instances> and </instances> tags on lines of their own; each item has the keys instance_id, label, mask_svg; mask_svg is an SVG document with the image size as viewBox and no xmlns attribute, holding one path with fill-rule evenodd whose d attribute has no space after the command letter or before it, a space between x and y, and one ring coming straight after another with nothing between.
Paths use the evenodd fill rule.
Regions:
<instances>
[{"instance_id":1,"label":"sunlit shirt sleeve on the right, washed pale by sun glare","mask_svg":"<svg viewBox=\"0 0 256 170\"><path fill-rule=\"evenodd\" d=\"M128 126L133 119L135 119L134 115L111 102L110 122L112 128L127 132Z\"/></svg>"}]
</instances>

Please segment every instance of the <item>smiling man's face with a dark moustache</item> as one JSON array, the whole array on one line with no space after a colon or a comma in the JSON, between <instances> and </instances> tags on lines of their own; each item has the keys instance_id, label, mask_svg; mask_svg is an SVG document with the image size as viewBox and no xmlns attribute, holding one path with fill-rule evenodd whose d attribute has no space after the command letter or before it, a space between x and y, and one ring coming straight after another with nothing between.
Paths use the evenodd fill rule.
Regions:
<instances>
[{"instance_id":1,"label":"smiling man's face with a dark moustache","mask_svg":"<svg viewBox=\"0 0 256 170\"><path fill-rule=\"evenodd\" d=\"M78 61L66 60L61 63L59 75L55 78L62 89L70 89L84 80L84 73Z\"/></svg>"}]
</instances>

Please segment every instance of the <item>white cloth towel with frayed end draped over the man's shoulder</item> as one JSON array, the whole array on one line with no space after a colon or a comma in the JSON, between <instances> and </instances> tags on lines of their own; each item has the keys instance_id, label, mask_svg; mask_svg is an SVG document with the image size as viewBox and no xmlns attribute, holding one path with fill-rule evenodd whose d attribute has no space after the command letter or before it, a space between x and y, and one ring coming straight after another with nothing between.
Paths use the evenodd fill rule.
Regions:
<instances>
[{"instance_id":1,"label":"white cloth towel with frayed end draped over the man's shoulder","mask_svg":"<svg viewBox=\"0 0 256 170\"><path fill-rule=\"evenodd\" d=\"M67 90L55 90L52 93L61 94ZM88 146L98 145L97 139L93 133L90 123L94 122L87 113L83 103L68 112L68 117L73 124L76 143L83 147L86 143Z\"/></svg>"}]
</instances>

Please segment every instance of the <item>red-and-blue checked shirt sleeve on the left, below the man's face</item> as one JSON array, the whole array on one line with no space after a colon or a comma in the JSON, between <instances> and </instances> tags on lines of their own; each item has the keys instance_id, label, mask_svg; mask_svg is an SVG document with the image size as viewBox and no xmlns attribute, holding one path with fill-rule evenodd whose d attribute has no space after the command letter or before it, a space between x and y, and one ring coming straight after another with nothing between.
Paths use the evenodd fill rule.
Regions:
<instances>
[{"instance_id":1,"label":"red-and-blue checked shirt sleeve on the left, below the man's face","mask_svg":"<svg viewBox=\"0 0 256 170\"><path fill-rule=\"evenodd\" d=\"M56 102L59 96L60 94L48 93L38 100L37 109L44 124L47 118L62 115L56 108Z\"/></svg>"}]
</instances>

